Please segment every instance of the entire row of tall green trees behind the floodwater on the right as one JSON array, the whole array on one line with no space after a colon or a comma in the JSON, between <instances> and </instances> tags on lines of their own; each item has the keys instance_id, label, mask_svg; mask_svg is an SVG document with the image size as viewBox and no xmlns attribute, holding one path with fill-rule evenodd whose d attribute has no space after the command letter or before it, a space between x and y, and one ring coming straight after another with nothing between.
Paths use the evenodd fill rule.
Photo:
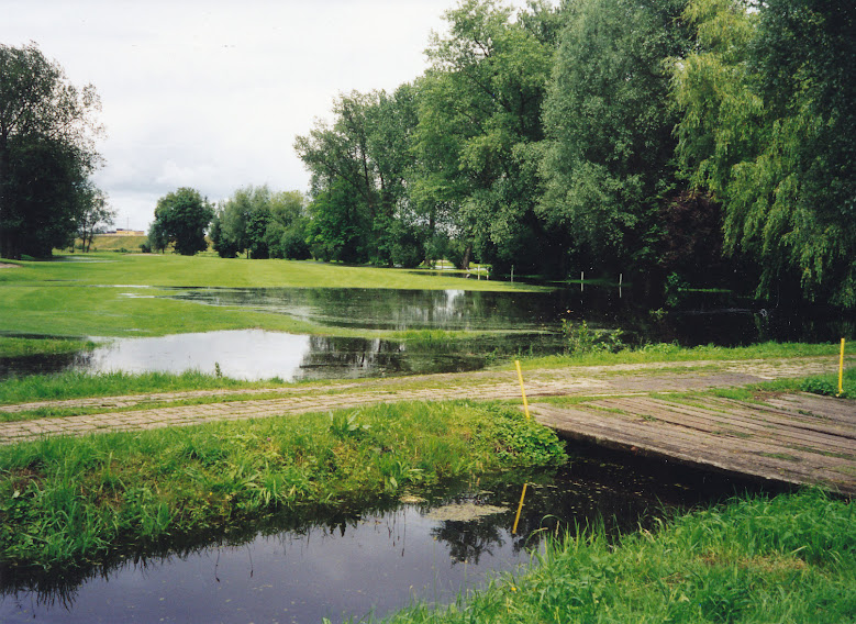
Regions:
<instances>
[{"instance_id":1,"label":"entire row of tall green trees behind the floodwater on the right","mask_svg":"<svg viewBox=\"0 0 856 624\"><path fill-rule=\"evenodd\" d=\"M297 137L311 252L856 307L854 13L463 0L423 76Z\"/></svg>"}]
</instances>

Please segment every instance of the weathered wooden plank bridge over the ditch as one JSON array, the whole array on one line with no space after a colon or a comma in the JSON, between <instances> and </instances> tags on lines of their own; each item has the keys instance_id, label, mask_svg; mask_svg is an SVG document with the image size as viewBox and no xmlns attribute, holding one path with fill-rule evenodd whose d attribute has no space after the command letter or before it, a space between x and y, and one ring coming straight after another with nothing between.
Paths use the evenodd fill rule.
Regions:
<instances>
[{"instance_id":1,"label":"weathered wooden plank bridge over the ditch","mask_svg":"<svg viewBox=\"0 0 856 624\"><path fill-rule=\"evenodd\" d=\"M536 403L563 436L641 455L856 495L856 401L813 394L760 403L612 397L572 406Z\"/></svg>"}]
</instances>

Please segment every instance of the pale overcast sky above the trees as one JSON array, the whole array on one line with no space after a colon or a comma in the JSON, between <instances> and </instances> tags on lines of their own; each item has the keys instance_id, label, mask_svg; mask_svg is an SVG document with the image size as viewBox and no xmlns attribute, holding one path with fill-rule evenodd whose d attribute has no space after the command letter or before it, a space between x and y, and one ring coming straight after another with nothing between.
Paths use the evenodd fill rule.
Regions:
<instances>
[{"instance_id":1,"label":"pale overcast sky above the trees","mask_svg":"<svg viewBox=\"0 0 856 624\"><path fill-rule=\"evenodd\" d=\"M307 191L294 137L340 92L391 91L421 75L430 33L456 4L2 0L0 42L35 42L74 85L95 85L107 130L96 181L118 227L145 230L178 187L212 201L247 185Z\"/></svg>"}]
</instances>

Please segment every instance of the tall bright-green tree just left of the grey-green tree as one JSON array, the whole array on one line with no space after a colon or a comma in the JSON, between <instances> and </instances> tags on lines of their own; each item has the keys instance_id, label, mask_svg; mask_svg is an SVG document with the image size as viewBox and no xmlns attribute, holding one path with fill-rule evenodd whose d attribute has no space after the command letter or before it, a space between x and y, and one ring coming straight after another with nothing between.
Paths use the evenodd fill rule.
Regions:
<instances>
[{"instance_id":1,"label":"tall bright-green tree just left of the grey-green tree","mask_svg":"<svg viewBox=\"0 0 856 624\"><path fill-rule=\"evenodd\" d=\"M557 12L533 3L514 21L494 0L463 0L434 35L420 83L418 201L452 215L452 234L481 261L543 259L548 234L534 213L541 107ZM465 252L462 264L469 260Z\"/></svg>"}]
</instances>

